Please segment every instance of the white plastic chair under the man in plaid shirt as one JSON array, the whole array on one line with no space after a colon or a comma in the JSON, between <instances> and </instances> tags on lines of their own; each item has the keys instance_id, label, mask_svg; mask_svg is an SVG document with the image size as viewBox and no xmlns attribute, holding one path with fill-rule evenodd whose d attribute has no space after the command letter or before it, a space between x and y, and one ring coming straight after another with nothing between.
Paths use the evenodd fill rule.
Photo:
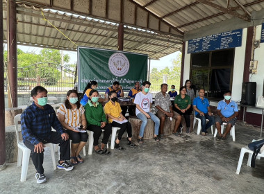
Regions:
<instances>
[{"instance_id":1,"label":"white plastic chair under the man in plaid shirt","mask_svg":"<svg viewBox=\"0 0 264 194\"><path fill-rule=\"evenodd\" d=\"M31 150L29 150L26 145L24 145L23 141L19 140L19 134L18 134L18 122L21 121L21 114L17 114L14 118L15 123L15 132L17 134L17 147L18 147L18 155L17 155L17 166L21 166L22 163L22 170L21 170L21 177L20 181L24 182L26 181L26 175L28 173L28 162L31 155ZM53 149L52 143L46 143L46 147L49 147L51 150L51 158L53 163L53 169L56 170L56 161L55 161L55 153Z\"/></svg>"}]
</instances>

